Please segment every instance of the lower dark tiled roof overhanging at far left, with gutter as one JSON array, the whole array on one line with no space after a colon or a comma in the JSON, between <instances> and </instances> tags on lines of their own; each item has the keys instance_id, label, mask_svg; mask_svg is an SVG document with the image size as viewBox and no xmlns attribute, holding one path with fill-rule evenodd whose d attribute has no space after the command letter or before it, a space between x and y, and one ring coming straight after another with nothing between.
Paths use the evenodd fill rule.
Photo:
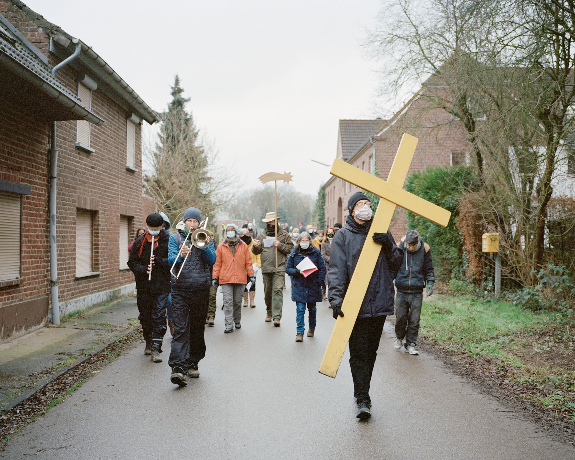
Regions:
<instances>
[{"instance_id":1,"label":"lower dark tiled roof overhanging at far left, with gutter","mask_svg":"<svg viewBox=\"0 0 575 460\"><path fill-rule=\"evenodd\" d=\"M85 119L103 124L100 117L51 74L51 68L33 48L0 14L0 68L5 79L2 93L43 112L50 120Z\"/></svg>"}]
</instances>

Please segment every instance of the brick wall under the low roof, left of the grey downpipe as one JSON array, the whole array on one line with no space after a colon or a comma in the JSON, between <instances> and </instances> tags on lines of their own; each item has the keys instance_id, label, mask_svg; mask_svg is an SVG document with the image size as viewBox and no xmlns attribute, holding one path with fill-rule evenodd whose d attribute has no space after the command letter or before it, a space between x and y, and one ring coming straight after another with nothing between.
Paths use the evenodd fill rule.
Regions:
<instances>
[{"instance_id":1,"label":"brick wall under the low roof, left of the grey downpipe","mask_svg":"<svg viewBox=\"0 0 575 460\"><path fill-rule=\"evenodd\" d=\"M0 100L0 179L30 186L22 195L20 281L0 281L0 339L48 315L48 122ZM24 301L31 301L22 305Z\"/></svg>"}]
</instances>

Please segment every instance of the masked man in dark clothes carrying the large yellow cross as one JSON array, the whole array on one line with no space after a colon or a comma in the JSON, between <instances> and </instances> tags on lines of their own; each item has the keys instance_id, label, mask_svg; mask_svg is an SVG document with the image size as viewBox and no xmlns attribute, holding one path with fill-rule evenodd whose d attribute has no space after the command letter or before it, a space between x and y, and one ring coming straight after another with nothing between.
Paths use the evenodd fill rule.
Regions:
<instances>
[{"instance_id":1,"label":"masked man in dark clothes carrying the large yellow cross","mask_svg":"<svg viewBox=\"0 0 575 460\"><path fill-rule=\"evenodd\" d=\"M344 316L343 298L358 262L363 243L369 233L372 212L369 198L361 192L354 193L347 202L349 215L346 226L335 233L331 241L329 256L328 294L333 308L333 317ZM354 397L358 403L356 417L371 416L369 385L379 339L384 328L385 317L393 314L392 270L398 270L402 252L393 241L391 232L375 233L373 240L381 243L379 258L371 275L369 286L363 297L359 315L350 336L350 367L354 379Z\"/></svg>"}]
</instances>

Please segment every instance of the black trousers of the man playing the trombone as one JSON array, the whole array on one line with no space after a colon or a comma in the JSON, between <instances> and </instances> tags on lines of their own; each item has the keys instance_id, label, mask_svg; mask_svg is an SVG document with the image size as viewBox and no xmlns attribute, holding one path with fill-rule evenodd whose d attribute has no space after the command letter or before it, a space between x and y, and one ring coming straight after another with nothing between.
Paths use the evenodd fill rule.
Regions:
<instances>
[{"instance_id":1,"label":"black trousers of the man playing the trombone","mask_svg":"<svg viewBox=\"0 0 575 460\"><path fill-rule=\"evenodd\" d=\"M184 373L206 355L204 324L208 314L210 289L172 291L174 336L170 352L170 367L180 367Z\"/></svg>"}]
</instances>

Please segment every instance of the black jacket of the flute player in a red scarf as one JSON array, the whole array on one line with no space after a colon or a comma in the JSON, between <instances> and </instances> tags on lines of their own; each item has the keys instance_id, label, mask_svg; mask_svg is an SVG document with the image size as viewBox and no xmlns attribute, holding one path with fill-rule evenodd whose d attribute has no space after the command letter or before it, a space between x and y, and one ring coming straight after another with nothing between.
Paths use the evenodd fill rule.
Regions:
<instances>
[{"instance_id":1,"label":"black jacket of the flute player in a red scarf","mask_svg":"<svg viewBox=\"0 0 575 460\"><path fill-rule=\"evenodd\" d=\"M136 275L136 289L148 290L150 292L167 293L171 291L170 287L170 266L168 266L168 241L170 233L162 229L159 237L158 247L154 250L154 266L152 267L152 280L148 281L148 264L150 264L150 252L152 243L145 242L142 254L140 244L143 235L140 235L132 245L132 251L128 259L128 267Z\"/></svg>"}]
</instances>

